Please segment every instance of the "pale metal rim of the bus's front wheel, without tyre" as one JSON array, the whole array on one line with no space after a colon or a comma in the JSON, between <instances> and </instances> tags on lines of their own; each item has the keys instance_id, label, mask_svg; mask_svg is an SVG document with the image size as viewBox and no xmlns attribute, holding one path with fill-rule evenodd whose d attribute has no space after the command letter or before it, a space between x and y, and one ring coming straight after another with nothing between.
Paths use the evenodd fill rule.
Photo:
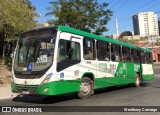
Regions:
<instances>
[{"instance_id":1,"label":"pale metal rim of the bus's front wheel, without tyre","mask_svg":"<svg viewBox=\"0 0 160 115\"><path fill-rule=\"evenodd\" d=\"M91 90L91 85L88 82L82 82L80 86L80 92L82 95L88 95Z\"/></svg>"}]
</instances>

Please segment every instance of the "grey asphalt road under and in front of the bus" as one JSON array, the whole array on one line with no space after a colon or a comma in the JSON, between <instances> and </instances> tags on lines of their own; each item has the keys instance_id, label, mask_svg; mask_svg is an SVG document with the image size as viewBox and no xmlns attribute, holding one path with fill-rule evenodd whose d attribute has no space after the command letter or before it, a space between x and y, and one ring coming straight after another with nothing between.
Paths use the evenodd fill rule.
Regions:
<instances>
[{"instance_id":1,"label":"grey asphalt road under and in front of the bus","mask_svg":"<svg viewBox=\"0 0 160 115\"><path fill-rule=\"evenodd\" d=\"M160 73L157 70L157 73ZM141 87L121 86L99 89L88 99L78 99L75 94L52 97L24 96L0 100L1 106L160 106L160 74ZM94 108L90 108L94 109ZM60 111L65 107L60 108ZM70 114L70 113L66 113Z\"/></svg>"}]
</instances>

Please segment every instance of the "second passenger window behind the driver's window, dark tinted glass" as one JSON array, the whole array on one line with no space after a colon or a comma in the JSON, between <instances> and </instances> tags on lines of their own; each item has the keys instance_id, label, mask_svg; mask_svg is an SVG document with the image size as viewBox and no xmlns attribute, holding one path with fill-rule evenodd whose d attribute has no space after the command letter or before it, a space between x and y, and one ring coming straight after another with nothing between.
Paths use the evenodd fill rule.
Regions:
<instances>
[{"instance_id":1,"label":"second passenger window behind the driver's window, dark tinted glass","mask_svg":"<svg viewBox=\"0 0 160 115\"><path fill-rule=\"evenodd\" d=\"M98 60L110 60L109 43L97 41L97 58Z\"/></svg>"}]
</instances>

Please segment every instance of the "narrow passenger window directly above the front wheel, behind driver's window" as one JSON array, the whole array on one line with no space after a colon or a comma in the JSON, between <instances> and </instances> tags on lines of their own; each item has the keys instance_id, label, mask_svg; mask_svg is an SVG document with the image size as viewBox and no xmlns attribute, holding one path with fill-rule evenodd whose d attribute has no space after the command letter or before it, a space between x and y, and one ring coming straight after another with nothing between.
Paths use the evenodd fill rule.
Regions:
<instances>
[{"instance_id":1,"label":"narrow passenger window directly above the front wheel, behind driver's window","mask_svg":"<svg viewBox=\"0 0 160 115\"><path fill-rule=\"evenodd\" d=\"M83 39L83 57L86 60L95 59L95 41L89 38Z\"/></svg>"}]
</instances>

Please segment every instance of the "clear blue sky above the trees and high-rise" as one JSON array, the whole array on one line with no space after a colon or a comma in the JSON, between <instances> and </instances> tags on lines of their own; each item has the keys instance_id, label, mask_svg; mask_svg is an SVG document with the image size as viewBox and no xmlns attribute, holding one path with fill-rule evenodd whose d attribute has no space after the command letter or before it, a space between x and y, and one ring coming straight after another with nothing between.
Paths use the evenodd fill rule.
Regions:
<instances>
[{"instance_id":1,"label":"clear blue sky above the trees and high-rise","mask_svg":"<svg viewBox=\"0 0 160 115\"><path fill-rule=\"evenodd\" d=\"M40 23L51 19L51 16L45 17L49 12L46 8L51 6L49 2L55 0L30 0L32 5L36 7L36 13L40 14L36 18ZM155 12L160 18L160 0L97 0L99 3L109 3L107 9L113 11L110 21L106 25L109 29L104 35L116 34L116 19L118 19L119 33L124 31L133 32L132 16L139 12Z\"/></svg>"}]
</instances>

